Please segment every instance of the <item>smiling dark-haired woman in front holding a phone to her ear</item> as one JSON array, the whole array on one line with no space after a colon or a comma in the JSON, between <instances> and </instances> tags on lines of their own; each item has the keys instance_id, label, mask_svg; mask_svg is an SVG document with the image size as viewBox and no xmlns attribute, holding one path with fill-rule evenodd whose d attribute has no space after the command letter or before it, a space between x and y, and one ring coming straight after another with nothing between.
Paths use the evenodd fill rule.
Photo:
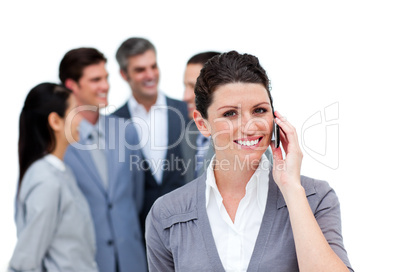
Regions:
<instances>
[{"instance_id":1,"label":"smiling dark-haired woman in front holding a phone to her ear","mask_svg":"<svg viewBox=\"0 0 402 272\"><path fill-rule=\"evenodd\" d=\"M300 175L296 130L273 112L269 90L254 56L232 51L204 65L194 120L212 137L215 157L203 176L148 214L151 272L353 271L338 198L327 182ZM274 122L285 157L271 143Z\"/></svg>"}]
</instances>

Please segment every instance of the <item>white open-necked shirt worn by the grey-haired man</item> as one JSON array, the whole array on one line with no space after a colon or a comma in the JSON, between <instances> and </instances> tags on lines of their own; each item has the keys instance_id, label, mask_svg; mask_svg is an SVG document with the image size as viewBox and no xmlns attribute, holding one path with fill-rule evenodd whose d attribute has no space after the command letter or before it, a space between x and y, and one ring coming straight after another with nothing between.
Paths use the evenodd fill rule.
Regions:
<instances>
[{"instance_id":1,"label":"white open-necked shirt worn by the grey-haired man","mask_svg":"<svg viewBox=\"0 0 402 272\"><path fill-rule=\"evenodd\" d=\"M149 112L131 96L128 100L128 110L137 129L144 157L156 182L161 184L168 147L166 96L158 92L156 103Z\"/></svg>"}]
</instances>

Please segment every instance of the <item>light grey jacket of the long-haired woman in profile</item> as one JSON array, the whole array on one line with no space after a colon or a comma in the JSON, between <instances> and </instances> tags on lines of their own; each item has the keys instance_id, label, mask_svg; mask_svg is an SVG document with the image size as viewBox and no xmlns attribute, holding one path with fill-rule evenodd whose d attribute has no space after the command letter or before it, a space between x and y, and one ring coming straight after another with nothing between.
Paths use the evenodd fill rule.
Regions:
<instances>
[{"instance_id":1,"label":"light grey jacket of the long-haired woman in profile","mask_svg":"<svg viewBox=\"0 0 402 272\"><path fill-rule=\"evenodd\" d=\"M16 199L18 242L9 271L97 272L88 203L73 173L45 158L25 173Z\"/></svg>"}]
</instances>

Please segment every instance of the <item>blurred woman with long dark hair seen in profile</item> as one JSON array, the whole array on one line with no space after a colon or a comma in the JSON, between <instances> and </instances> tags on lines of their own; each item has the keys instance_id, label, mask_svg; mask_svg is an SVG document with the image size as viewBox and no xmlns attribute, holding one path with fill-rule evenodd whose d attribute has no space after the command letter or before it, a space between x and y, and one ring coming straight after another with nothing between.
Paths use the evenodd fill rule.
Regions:
<instances>
[{"instance_id":1,"label":"blurred woman with long dark hair seen in profile","mask_svg":"<svg viewBox=\"0 0 402 272\"><path fill-rule=\"evenodd\" d=\"M18 241L10 271L98 271L88 203L63 162L79 138L80 120L67 88L42 83L28 93L20 115Z\"/></svg>"}]
</instances>

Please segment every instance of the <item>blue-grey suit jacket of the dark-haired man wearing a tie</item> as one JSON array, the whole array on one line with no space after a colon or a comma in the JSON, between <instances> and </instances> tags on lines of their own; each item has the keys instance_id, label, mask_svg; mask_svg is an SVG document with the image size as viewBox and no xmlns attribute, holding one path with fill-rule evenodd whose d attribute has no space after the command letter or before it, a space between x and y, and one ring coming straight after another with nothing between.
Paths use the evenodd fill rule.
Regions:
<instances>
[{"instance_id":1,"label":"blue-grey suit jacket of the dark-haired man wearing a tie","mask_svg":"<svg viewBox=\"0 0 402 272\"><path fill-rule=\"evenodd\" d=\"M88 200L96 234L96 261L100 272L146 272L139 210L144 197L144 173L135 162L142 159L137 132L123 118L105 116L108 187L85 147L83 130L80 142L67 149L65 162Z\"/></svg>"}]
</instances>

